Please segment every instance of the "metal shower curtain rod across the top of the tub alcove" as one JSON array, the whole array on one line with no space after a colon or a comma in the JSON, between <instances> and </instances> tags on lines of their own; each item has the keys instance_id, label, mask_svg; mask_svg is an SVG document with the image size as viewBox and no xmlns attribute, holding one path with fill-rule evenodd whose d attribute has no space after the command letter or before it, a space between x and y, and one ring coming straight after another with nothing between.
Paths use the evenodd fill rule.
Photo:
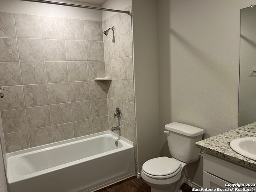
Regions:
<instances>
[{"instance_id":1,"label":"metal shower curtain rod across the top of the tub alcove","mask_svg":"<svg viewBox=\"0 0 256 192\"><path fill-rule=\"evenodd\" d=\"M122 11L122 10L115 10L115 9L106 9L106 8L100 8L100 7L91 7L91 6L77 5L77 4L71 4L71 3L55 2L55 1L46 1L46 0L20 0L20 1L48 3L48 4L54 4L54 5L64 5L64 6L70 6L70 7L79 7L79 8L87 8L87 9L102 10L102 11L111 11L111 12L118 12L118 13L126 13L126 14L128 14L128 15L130 14L130 11Z\"/></svg>"}]
</instances>

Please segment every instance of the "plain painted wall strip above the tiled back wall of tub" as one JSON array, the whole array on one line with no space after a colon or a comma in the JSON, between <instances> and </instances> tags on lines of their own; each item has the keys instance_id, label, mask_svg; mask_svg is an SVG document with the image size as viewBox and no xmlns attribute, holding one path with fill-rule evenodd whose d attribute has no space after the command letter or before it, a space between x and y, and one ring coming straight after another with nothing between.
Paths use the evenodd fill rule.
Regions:
<instances>
[{"instance_id":1,"label":"plain painted wall strip above the tiled back wall of tub","mask_svg":"<svg viewBox=\"0 0 256 192\"><path fill-rule=\"evenodd\" d=\"M72 1L64 0L60 2L74 3ZM98 5L94 4L80 4L99 7ZM18 0L0 0L0 12L102 21L102 15L100 10L52 5L37 2L25 2Z\"/></svg>"}]
</instances>

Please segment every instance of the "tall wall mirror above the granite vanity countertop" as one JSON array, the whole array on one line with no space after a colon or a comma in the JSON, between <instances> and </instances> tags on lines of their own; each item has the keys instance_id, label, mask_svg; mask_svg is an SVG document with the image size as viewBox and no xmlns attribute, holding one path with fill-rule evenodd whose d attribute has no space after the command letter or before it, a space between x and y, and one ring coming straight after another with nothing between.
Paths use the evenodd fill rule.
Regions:
<instances>
[{"instance_id":1,"label":"tall wall mirror above the granite vanity countertop","mask_svg":"<svg viewBox=\"0 0 256 192\"><path fill-rule=\"evenodd\" d=\"M256 6L241 9L238 129L256 132Z\"/></svg>"}]
</instances>

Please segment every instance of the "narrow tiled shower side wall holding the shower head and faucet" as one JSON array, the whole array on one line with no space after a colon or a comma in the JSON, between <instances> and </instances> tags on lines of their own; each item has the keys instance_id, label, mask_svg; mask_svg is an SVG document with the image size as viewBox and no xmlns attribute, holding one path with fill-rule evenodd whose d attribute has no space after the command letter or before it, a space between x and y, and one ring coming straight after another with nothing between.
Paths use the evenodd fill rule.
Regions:
<instances>
[{"instance_id":1,"label":"narrow tiled shower side wall holding the shower head and faucet","mask_svg":"<svg viewBox=\"0 0 256 192\"><path fill-rule=\"evenodd\" d=\"M131 12L130 7L126 10ZM108 36L103 36L106 76L112 77L107 84L109 126L121 125L119 134L134 142L137 157L131 15L115 14L102 26L103 30L115 27L114 32L110 30ZM114 119L117 107L122 111L120 120Z\"/></svg>"}]
</instances>

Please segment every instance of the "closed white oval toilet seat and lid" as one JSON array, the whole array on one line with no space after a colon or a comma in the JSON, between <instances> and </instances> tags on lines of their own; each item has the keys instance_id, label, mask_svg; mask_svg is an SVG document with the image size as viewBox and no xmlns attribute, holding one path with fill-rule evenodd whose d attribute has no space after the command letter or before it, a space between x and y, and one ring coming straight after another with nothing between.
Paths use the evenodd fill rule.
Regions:
<instances>
[{"instance_id":1,"label":"closed white oval toilet seat and lid","mask_svg":"<svg viewBox=\"0 0 256 192\"><path fill-rule=\"evenodd\" d=\"M146 161L142 166L142 172L150 177L157 179L171 178L178 174L182 169L179 162L168 157L158 157Z\"/></svg>"}]
</instances>

